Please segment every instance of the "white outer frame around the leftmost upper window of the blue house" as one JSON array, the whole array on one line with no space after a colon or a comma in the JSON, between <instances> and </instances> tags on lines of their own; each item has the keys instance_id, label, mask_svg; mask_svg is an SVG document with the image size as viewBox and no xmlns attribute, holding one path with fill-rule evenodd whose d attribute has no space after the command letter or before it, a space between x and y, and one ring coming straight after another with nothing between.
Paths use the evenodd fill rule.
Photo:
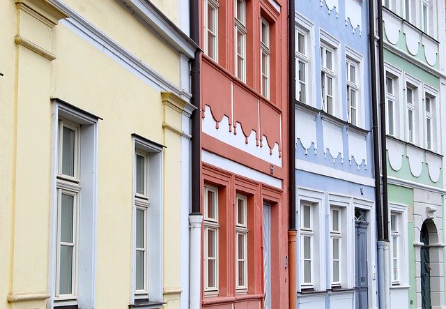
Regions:
<instances>
[{"instance_id":1,"label":"white outer frame around the leftmost upper window of the blue house","mask_svg":"<svg viewBox=\"0 0 446 309\"><path fill-rule=\"evenodd\" d=\"M316 89L314 88L313 81L313 77L316 76L316 67L314 66L314 24L299 13L296 13L295 18L295 100L315 107L316 101L314 98L316 98ZM298 33L301 33L305 37L304 53L298 50ZM305 66L305 100L300 100L299 98L299 63Z\"/></svg>"}]
</instances>

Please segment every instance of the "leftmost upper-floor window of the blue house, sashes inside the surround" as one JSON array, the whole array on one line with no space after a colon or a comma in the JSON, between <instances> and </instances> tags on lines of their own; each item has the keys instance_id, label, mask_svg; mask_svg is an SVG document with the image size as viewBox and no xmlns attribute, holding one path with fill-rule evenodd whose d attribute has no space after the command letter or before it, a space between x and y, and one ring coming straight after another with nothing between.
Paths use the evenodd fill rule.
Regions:
<instances>
[{"instance_id":1,"label":"leftmost upper-floor window of the blue house, sashes inside the surround","mask_svg":"<svg viewBox=\"0 0 446 309\"><path fill-rule=\"evenodd\" d=\"M297 28L295 30L295 84L296 99L299 102L308 104L308 68L309 68L309 51L308 51L308 35L307 31Z\"/></svg>"}]
</instances>

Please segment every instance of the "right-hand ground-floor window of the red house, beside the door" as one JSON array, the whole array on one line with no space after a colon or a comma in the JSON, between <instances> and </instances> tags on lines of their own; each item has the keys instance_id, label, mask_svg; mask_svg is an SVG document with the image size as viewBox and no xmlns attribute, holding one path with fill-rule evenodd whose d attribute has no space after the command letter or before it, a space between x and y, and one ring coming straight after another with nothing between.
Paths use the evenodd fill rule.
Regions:
<instances>
[{"instance_id":1,"label":"right-hand ground-floor window of the red house, beside the door","mask_svg":"<svg viewBox=\"0 0 446 309\"><path fill-rule=\"evenodd\" d=\"M247 198L236 196L236 290L247 292Z\"/></svg>"}]
</instances>

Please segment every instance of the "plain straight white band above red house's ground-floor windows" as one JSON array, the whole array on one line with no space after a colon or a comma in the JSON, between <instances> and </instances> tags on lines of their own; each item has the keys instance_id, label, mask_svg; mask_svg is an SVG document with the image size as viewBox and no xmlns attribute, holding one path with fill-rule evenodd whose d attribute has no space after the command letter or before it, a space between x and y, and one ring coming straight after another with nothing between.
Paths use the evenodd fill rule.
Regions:
<instances>
[{"instance_id":1,"label":"plain straight white band above red house's ground-floor windows","mask_svg":"<svg viewBox=\"0 0 446 309\"><path fill-rule=\"evenodd\" d=\"M241 165L221 156L217 156L215 153L202 150L201 161L203 163L214 165L215 167L220 167L221 169L224 169L228 172L243 175L254 181L259 181L262 183L266 183L269 186L282 189L282 180L274 178L267 174L263 174L262 172L256 171L255 169L251 169L249 167L246 167L245 165Z\"/></svg>"}]
</instances>

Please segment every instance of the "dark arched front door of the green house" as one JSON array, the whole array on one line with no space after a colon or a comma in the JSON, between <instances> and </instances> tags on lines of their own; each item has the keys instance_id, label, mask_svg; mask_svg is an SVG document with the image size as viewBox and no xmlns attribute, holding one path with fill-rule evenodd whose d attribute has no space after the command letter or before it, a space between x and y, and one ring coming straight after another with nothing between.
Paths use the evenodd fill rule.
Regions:
<instances>
[{"instance_id":1,"label":"dark arched front door of the green house","mask_svg":"<svg viewBox=\"0 0 446 309\"><path fill-rule=\"evenodd\" d=\"M421 308L431 309L431 260L429 259L429 232L426 223L421 227L420 241L424 243L421 247Z\"/></svg>"}]
</instances>

